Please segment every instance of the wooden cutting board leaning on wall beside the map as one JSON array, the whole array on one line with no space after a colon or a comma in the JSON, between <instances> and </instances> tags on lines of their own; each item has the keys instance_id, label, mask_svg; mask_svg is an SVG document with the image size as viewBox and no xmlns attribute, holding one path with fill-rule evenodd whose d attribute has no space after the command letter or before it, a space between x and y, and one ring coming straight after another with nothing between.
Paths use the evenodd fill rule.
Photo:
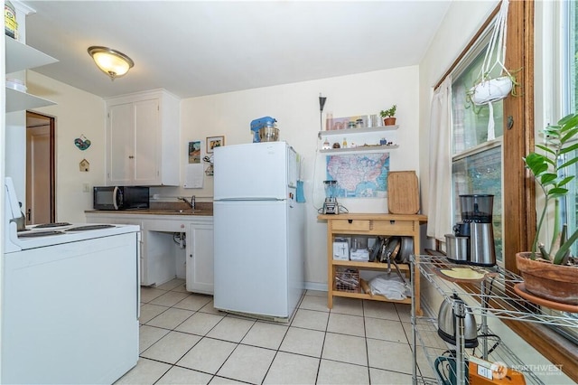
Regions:
<instances>
[{"instance_id":1,"label":"wooden cutting board leaning on wall beside the map","mask_svg":"<svg viewBox=\"0 0 578 385\"><path fill-rule=\"evenodd\" d=\"M390 171L387 174L387 209L391 214L416 214L419 211L415 171Z\"/></svg>"}]
</instances>

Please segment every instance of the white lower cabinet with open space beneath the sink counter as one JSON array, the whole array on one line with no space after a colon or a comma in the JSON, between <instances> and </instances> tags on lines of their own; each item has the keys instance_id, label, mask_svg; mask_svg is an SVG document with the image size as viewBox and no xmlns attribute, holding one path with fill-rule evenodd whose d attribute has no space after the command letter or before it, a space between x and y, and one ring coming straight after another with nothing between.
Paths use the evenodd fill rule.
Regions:
<instances>
[{"instance_id":1,"label":"white lower cabinet with open space beneath the sink counter","mask_svg":"<svg viewBox=\"0 0 578 385\"><path fill-rule=\"evenodd\" d=\"M87 211L86 218L89 223L141 227L142 286L160 286L174 277L184 277L188 291L213 294L212 217ZM185 249L173 237L182 233L186 234Z\"/></svg>"}]
</instances>

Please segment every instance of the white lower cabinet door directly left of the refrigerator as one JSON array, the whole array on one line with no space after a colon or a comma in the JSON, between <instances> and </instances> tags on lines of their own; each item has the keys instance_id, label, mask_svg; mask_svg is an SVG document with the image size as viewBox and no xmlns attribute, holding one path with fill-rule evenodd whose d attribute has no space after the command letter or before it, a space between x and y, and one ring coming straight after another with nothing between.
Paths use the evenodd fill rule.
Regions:
<instances>
[{"instance_id":1,"label":"white lower cabinet door directly left of the refrigerator","mask_svg":"<svg viewBox=\"0 0 578 385\"><path fill-rule=\"evenodd\" d=\"M191 224L187 232L187 290L213 294L213 226Z\"/></svg>"}]
</instances>

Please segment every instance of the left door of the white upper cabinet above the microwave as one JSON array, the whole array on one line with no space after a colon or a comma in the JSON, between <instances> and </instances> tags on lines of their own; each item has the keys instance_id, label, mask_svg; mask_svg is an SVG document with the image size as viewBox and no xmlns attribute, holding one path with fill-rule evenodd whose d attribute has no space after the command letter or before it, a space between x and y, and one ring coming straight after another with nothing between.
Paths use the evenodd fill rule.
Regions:
<instances>
[{"instance_id":1,"label":"left door of the white upper cabinet above the microwave","mask_svg":"<svg viewBox=\"0 0 578 385\"><path fill-rule=\"evenodd\" d=\"M135 167L133 103L108 108L107 185L130 185Z\"/></svg>"}]
</instances>

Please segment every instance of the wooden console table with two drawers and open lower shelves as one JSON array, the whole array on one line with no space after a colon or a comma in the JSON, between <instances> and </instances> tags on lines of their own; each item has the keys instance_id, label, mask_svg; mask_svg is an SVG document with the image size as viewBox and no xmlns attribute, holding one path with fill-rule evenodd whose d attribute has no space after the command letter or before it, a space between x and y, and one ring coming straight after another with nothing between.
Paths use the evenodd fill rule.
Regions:
<instances>
[{"instance_id":1,"label":"wooden console table with two drawers and open lower shelves","mask_svg":"<svg viewBox=\"0 0 578 385\"><path fill-rule=\"evenodd\" d=\"M385 270L387 264L381 262L363 262L354 260L333 259L333 239L343 236L382 236L382 237L413 237L414 254L420 252L420 229L419 225L427 221L427 217L421 214L398 215L398 214L323 214L317 216L318 220L327 221L327 307L333 307L333 296L346 296L350 298L372 299L386 302L410 304L411 298L404 300L391 300L385 296L370 296L366 293L354 293L335 289L335 268L358 268L359 270ZM402 273L409 274L409 261L398 264ZM392 267L392 269L395 269ZM420 306L419 271L415 272L415 280L412 282L415 293L415 311L422 315Z\"/></svg>"}]
</instances>

